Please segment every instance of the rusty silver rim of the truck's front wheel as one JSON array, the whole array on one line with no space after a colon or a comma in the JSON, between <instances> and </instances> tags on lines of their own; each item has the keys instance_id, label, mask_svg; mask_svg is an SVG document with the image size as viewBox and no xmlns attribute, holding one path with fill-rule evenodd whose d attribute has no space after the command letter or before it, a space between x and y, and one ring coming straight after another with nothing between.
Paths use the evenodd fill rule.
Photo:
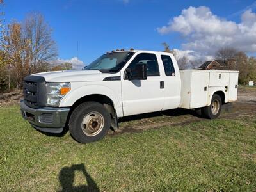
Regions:
<instances>
[{"instance_id":1,"label":"rusty silver rim of the truck's front wheel","mask_svg":"<svg viewBox=\"0 0 256 192\"><path fill-rule=\"evenodd\" d=\"M104 118L101 113L93 111L84 116L81 128L86 136L99 134L104 127Z\"/></svg>"}]
</instances>

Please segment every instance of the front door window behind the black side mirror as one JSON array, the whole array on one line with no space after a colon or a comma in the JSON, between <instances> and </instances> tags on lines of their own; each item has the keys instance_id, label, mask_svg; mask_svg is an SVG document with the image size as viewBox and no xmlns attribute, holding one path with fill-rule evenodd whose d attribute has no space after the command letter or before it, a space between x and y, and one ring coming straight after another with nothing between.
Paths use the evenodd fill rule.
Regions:
<instances>
[{"instance_id":1,"label":"front door window behind the black side mirror","mask_svg":"<svg viewBox=\"0 0 256 192\"><path fill-rule=\"evenodd\" d=\"M147 64L147 75L148 76L159 76L159 68L157 58L155 54L141 53L134 58L128 68L134 70L136 65L145 63Z\"/></svg>"}]
</instances>

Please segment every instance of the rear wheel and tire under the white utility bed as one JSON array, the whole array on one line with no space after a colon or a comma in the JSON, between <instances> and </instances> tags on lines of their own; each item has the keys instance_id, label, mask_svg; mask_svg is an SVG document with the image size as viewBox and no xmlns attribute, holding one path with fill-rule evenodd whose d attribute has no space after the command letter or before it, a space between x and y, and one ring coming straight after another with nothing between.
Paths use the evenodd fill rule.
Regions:
<instances>
[{"instance_id":1,"label":"rear wheel and tire under the white utility bed","mask_svg":"<svg viewBox=\"0 0 256 192\"><path fill-rule=\"evenodd\" d=\"M213 95L210 106L202 108L202 115L205 118L214 119L220 115L221 112L221 98L219 95Z\"/></svg>"}]
</instances>

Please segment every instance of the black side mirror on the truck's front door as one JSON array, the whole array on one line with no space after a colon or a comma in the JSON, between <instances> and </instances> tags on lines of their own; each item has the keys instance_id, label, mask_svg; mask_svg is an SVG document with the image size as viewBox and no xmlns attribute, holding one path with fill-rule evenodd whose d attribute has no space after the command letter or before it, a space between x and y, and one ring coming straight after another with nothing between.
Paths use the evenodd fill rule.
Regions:
<instances>
[{"instance_id":1,"label":"black side mirror on the truck's front door","mask_svg":"<svg viewBox=\"0 0 256 192\"><path fill-rule=\"evenodd\" d=\"M147 79L147 65L145 63L138 63L134 70L127 68L125 70L124 79L129 80L146 80Z\"/></svg>"}]
</instances>

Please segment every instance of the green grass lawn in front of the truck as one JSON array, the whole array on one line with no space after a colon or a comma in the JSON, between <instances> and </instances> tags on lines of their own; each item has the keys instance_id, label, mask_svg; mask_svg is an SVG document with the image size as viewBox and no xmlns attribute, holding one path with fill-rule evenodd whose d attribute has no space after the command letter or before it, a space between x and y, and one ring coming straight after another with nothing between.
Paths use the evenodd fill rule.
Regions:
<instances>
[{"instance_id":1,"label":"green grass lawn in front of the truck","mask_svg":"<svg viewBox=\"0 0 256 192\"><path fill-rule=\"evenodd\" d=\"M36 131L17 105L2 107L0 191L255 191L255 118L203 120L81 145L68 133Z\"/></svg>"}]
</instances>

